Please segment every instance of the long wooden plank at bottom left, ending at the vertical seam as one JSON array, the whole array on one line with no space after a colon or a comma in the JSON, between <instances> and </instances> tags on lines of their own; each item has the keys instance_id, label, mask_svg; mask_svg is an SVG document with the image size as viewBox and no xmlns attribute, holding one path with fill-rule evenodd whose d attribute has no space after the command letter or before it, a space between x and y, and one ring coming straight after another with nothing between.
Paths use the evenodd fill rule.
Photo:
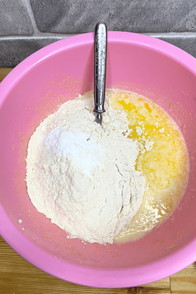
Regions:
<instances>
[{"instance_id":1,"label":"long wooden plank at bottom left, ending at the vertical seam","mask_svg":"<svg viewBox=\"0 0 196 294\"><path fill-rule=\"evenodd\" d=\"M140 287L105 289L69 283L34 267L0 237L0 294L170 294L170 278Z\"/></svg>"}]
</instances>

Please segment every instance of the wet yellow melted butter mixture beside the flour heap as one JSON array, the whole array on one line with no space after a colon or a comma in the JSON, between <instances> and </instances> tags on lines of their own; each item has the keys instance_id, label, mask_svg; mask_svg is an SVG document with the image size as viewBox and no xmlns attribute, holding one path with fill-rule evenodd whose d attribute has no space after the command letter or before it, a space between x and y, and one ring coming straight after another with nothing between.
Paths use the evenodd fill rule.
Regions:
<instances>
[{"instance_id":1,"label":"wet yellow melted butter mixture beside the flour heap","mask_svg":"<svg viewBox=\"0 0 196 294\"><path fill-rule=\"evenodd\" d=\"M141 143L135 168L148 183L143 203L126 231L114 238L115 243L137 240L160 225L175 209L187 184L188 155L182 134L175 122L158 105L138 94L107 90L112 107L127 113L129 137ZM137 128L143 131L138 134ZM145 151L145 142L153 148Z\"/></svg>"}]
</instances>

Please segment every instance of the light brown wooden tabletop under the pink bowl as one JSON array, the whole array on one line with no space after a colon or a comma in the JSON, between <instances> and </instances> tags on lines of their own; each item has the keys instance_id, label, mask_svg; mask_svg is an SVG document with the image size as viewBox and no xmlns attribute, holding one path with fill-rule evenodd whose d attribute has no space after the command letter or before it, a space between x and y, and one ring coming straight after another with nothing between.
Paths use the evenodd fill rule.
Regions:
<instances>
[{"instance_id":1,"label":"light brown wooden tabletop under the pink bowl","mask_svg":"<svg viewBox=\"0 0 196 294\"><path fill-rule=\"evenodd\" d=\"M11 69L0 69L0 82ZM196 294L196 262L179 273L132 288L103 289L59 280L19 256L0 236L0 294Z\"/></svg>"}]
</instances>

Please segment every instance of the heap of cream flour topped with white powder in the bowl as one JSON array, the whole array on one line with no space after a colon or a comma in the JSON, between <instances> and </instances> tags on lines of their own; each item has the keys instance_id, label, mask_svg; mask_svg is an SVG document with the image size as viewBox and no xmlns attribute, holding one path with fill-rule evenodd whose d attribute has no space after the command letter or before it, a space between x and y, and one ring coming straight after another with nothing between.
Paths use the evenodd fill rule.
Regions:
<instances>
[{"instance_id":1,"label":"heap of cream flour topped with white powder in the bowl","mask_svg":"<svg viewBox=\"0 0 196 294\"><path fill-rule=\"evenodd\" d=\"M128 138L126 114L108 96L102 127L93 102L67 101L41 122L29 141L26 183L36 209L68 238L112 244L142 203L145 178L135 170L141 144Z\"/></svg>"}]
</instances>

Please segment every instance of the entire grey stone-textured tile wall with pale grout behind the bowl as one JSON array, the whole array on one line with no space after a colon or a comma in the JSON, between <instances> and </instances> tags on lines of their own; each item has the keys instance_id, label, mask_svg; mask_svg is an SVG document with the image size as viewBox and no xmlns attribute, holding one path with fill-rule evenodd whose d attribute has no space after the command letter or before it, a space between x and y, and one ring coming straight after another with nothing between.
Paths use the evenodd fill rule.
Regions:
<instances>
[{"instance_id":1,"label":"entire grey stone-textured tile wall with pale grout behind the bowl","mask_svg":"<svg viewBox=\"0 0 196 294\"><path fill-rule=\"evenodd\" d=\"M94 31L146 34L196 57L195 0L0 0L0 67L60 39Z\"/></svg>"}]
</instances>

